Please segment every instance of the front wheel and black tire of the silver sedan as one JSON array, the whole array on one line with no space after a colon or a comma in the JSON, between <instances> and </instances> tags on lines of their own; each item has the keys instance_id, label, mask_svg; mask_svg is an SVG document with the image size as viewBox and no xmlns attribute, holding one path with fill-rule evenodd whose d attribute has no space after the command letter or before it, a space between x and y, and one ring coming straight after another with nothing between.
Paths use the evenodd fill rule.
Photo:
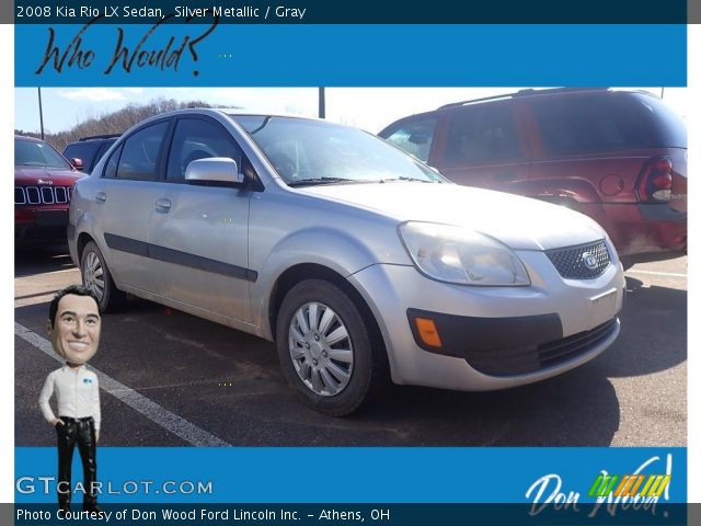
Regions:
<instances>
[{"instance_id":1,"label":"front wheel and black tire of the silver sedan","mask_svg":"<svg viewBox=\"0 0 701 526\"><path fill-rule=\"evenodd\" d=\"M307 279L295 285L283 300L275 332L285 378L318 411L348 415L381 384L382 346L374 341L353 300L329 282ZM347 338L330 343L344 332Z\"/></svg>"}]
</instances>

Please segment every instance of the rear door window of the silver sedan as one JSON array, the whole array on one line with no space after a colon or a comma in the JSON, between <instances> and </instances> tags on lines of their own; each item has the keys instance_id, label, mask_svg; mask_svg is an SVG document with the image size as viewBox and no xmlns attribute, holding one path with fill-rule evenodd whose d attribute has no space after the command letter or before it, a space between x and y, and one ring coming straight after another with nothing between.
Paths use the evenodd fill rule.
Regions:
<instances>
[{"instance_id":1,"label":"rear door window of the silver sedan","mask_svg":"<svg viewBox=\"0 0 701 526\"><path fill-rule=\"evenodd\" d=\"M136 181L156 181L158 179L158 157L168 125L168 122L163 122L147 126L125 140L119 156L117 179Z\"/></svg>"}]
</instances>

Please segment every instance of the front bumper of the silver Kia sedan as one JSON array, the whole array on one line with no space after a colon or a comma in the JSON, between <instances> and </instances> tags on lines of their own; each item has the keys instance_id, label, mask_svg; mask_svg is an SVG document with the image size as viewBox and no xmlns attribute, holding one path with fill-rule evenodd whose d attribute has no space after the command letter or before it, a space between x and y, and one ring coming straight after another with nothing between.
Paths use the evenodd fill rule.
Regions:
<instances>
[{"instance_id":1,"label":"front bumper of the silver Kia sedan","mask_svg":"<svg viewBox=\"0 0 701 526\"><path fill-rule=\"evenodd\" d=\"M595 279L564 279L544 253L518 255L529 287L450 285L401 265L350 276L378 320L394 382L510 388L577 367L613 343L625 284L617 260ZM417 316L436 323L440 348L422 342Z\"/></svg>"}]
</instances>

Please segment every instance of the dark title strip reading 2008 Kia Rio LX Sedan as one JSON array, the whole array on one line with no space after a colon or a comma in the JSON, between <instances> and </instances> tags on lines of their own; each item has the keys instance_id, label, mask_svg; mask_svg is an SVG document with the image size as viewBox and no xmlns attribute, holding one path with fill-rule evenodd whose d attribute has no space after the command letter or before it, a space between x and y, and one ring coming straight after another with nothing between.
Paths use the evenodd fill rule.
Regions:
<instances>
[{"instance_id":1,"label":"dark title strip reading 2008 Kia Rio LX Sedan","mask_svg":"<svg viewBox=\"0 0 701 526\"><path fill-rule=\"evenodd\" d=\"M231 0L16 0L16 24L146 23L173 16L175 23L218 18L231 24L686 24L686 0L298 0L267 3Z\"/></svg>"}]
</instances>

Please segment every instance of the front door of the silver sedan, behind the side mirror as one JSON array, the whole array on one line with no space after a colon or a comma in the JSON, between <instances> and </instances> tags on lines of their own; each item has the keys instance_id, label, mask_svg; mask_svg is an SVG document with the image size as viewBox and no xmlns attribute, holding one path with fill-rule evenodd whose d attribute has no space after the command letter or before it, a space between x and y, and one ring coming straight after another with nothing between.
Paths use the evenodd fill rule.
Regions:
<instances>
[{"instance_id":1,"label":"front door of the silver sedan, behind the side mirror","mask_svg":"<svg viewBox=\"0 0 701 526\"><path fill-rule=\"evenodd\" d=\"M185 182L196 159L243 153L229 132L208 116L179 117L162 184L150 215L150 247L158 293L185 311L228 324L250 321L245 188Z\"/></svg>"}]
</instances>

